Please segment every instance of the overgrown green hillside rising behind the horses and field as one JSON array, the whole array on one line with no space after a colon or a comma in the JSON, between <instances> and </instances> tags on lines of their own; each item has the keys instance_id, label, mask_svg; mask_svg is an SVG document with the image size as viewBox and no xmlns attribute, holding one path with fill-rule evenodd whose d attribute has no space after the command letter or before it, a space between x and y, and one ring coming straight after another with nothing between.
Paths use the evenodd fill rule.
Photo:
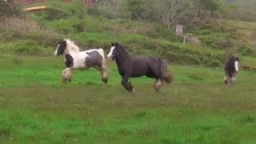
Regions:
<instances>
[{"instance_id":1,"label":"overgrown green hillside rising behind the horses and field","mask_svg":"<svg viewBox=\"0 0 256 144\"><path fill-rule=\"evenodd\" d=\"M256 55L251 39L254 36L253 22L217 22L201 29L185 29L185 33L198 38L200 45L184 45L183 38L177 37L174 30L161 22L107 18L100 11L102 7L88 9L77 2L49 1L43 4L58 9L26 14L25 21L10 19L11 25L6 22L0 30L2 51L50 56L58 40L70 38L86 50L102 47L108 51L110 42L121 42L134 56L154 55L176 64L222 66L229 54L237 54L244 64L254 66L254 62L247 62Z\"/></svg>"}]
</instances>

